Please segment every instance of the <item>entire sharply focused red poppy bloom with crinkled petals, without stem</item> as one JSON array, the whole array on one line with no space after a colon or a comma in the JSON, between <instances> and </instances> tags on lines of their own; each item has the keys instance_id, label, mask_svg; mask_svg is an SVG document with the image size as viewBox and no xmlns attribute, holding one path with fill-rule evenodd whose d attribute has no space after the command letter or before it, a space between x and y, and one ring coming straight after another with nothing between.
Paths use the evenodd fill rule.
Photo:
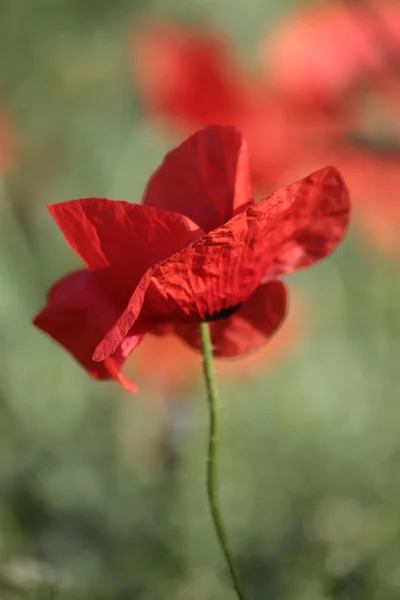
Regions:
<instances>
[{"instance_id":1,"label":"entire sharply focused red poppy bloom with crinkled petals, without stem","mask_svg":"<svg viewBox=\"0 0 400 600\"><path fill-rule=\"evenodd\" d=\"M35 324L89 373L115 377L143 335L175 330L199 347L211 323L216 356L268 340L286 313L278 279L329 255L349 219L332 167L253 203L238 131L209 127L171 151L143 204L72 200L50 213L86 269L51 290Z\"/></svg>"}]
</instances>

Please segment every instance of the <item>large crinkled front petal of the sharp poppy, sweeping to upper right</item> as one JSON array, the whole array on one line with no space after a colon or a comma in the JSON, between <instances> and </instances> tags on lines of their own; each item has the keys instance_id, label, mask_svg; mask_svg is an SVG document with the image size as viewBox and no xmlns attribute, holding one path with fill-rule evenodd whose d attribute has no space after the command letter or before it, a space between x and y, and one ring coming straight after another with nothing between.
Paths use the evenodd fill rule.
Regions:
<instances>
[{"instance_id":1,"label":"large crinkled front petal of the sharp poppy, sweeping to upper right","mask_svg":"<svg viewBox=\"0 0 400 600\"><path fill-rule=\"evenodd\" d=\"M139 317L137 303L143 318L155 324L213 319L244 304L262 282L328 256L348 220L348 192L333 167L278 190L156 265L147 275L144 300L141 290L133 294L134 310L128 305L95 360L117 349L127 324Z\"/></svg>"}]
</instances>

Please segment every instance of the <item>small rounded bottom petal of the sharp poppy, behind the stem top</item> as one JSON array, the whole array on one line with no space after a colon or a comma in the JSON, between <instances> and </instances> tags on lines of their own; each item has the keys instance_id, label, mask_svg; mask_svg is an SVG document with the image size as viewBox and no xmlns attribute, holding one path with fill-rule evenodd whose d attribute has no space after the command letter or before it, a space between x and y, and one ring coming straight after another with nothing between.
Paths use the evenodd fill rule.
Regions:
<instances>
[{"instance_id":1,"label":"small rounded bottom petal of the sharp poppy, behind the stem top","mask_svg":"<svg viewBox=\"0 0 400 600\"><path fill-rule=\"evenodd\" d=\"M233 315L210 323L214 356L234 358L265 344L284 320L286 305L287 292L281 281L261 285ZM201 350L198 324L179 323L175 333Z\"/></svg>"}]
</instances>

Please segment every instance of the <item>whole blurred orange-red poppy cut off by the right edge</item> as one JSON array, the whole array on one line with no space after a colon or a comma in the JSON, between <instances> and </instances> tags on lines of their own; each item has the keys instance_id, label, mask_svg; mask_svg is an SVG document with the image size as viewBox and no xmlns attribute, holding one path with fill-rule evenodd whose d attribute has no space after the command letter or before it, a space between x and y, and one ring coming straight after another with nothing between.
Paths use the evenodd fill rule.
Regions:
<instances>
[{"instance_id":1,"label":"whole blurred orange-red poppy cut off by the right edge","mask_svg":"<svg viewBox=\"0 0 400 600\"><path fill-rule=\"evenodd\" d=\"M296 105L350 107L342 133L325 131L319 144L303 146L280 183L334 164L351 191L364 249L399 259L399 2L300 8L266 37L264 59L275 90Z\"/></svg>"}]
</instances>

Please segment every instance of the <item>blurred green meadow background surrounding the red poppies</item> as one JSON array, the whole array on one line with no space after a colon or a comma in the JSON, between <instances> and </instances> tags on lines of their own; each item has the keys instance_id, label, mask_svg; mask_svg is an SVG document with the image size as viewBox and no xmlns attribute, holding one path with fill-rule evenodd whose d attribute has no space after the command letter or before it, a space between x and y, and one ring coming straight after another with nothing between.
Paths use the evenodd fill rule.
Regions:
<instances>
[{"instance_id":1,"label":"blurred green meadow background surrounding the red poppies","mask_svg":"<svg viewBox=\"0 0 400 600\"><path fill-rule=\"evenodd\" d=\"M131 81L137 19L212 24L246 61L289 5L0 3L1 104L19 146L0 181L1 600L233 598L205 499L202 389L166 403L96 383L30 320L78 264L46 203L137 202L174 143ZM221 498L248 597L397 600L399 268L350 234L291 283L307 316L297 352L221 385Z\"/></svg>"}]
</instances>

